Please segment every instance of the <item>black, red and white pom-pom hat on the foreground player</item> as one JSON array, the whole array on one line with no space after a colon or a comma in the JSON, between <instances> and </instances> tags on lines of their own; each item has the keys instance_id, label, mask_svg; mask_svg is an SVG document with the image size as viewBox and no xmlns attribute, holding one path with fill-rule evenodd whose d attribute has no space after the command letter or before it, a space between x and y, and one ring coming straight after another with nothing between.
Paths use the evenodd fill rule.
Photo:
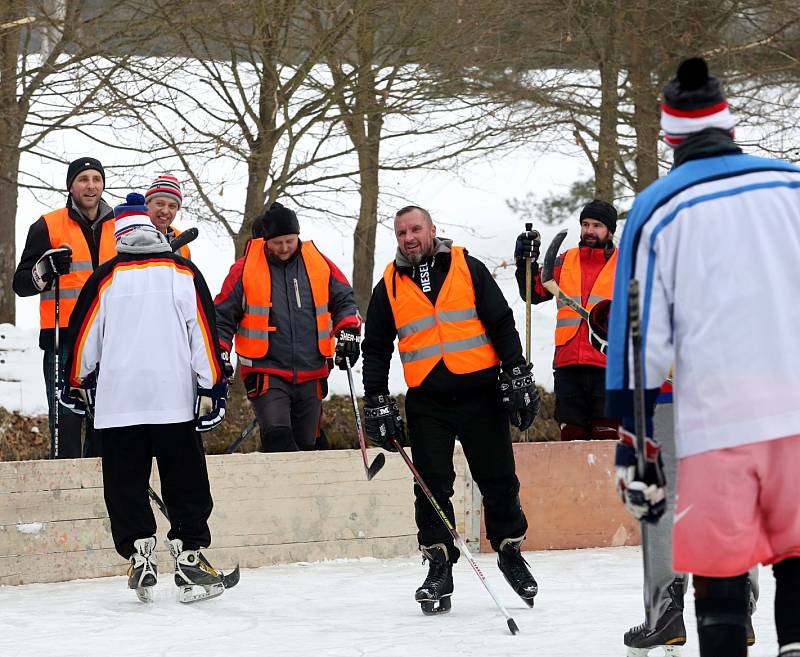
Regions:
<instances>
[{"instance_id":1,"label":"black, red and white pom-pom hat on the foreground player","mask_svg":"<svg viewBox=\"0 0 800 657\"><path fill-rule=\"evenodd\" d=\"M705 60L692 57L683 61L677 75L664 87L661 103L664 141L675 148L700 130L718 128L733 136L735 127L736 120L728 109L722 85L709 76Z\"/></svg>"}]
</instances>

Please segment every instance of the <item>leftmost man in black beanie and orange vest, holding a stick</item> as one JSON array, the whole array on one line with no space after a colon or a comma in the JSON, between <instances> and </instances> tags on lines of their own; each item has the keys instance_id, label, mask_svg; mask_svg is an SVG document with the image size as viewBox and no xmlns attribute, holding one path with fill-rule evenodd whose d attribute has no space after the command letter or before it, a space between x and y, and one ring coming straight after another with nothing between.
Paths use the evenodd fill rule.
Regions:
<instances>
[{"instance_id":1,"label":"leftmost man in black beanie and orange vest, holding a stick","mask_svg":"<svg viewBox=\"0 0 800 657\"><path fill-rule=\"evenodd\" d=\"M44 350L44 380L47 389L48 424L52 458L81 456L83 415L56 402L56 376L64 381L64 362L72 336L69 318L81 288L91 273L116 253L114 211L102 199L106 184L103 165L82 157L67 169L67 204L41 216L28 229L25 248L14 272L14 292L21 297L39 295L39 347ZM56 358L56 296L59 278L59 344ZM56 362L58 374L56 375ZM58 413L58 444L55 437ZM84 456L100 456L100 434L86 423Z\"/></svg>"}]
</instances>

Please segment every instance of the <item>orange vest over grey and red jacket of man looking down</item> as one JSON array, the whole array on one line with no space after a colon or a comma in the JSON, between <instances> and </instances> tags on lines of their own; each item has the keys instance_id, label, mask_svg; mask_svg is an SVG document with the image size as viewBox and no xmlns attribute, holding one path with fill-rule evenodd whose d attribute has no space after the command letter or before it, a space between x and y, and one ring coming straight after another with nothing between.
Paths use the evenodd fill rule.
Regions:
<instances>
[{"instance_id":1,"label":"orange vest over grey and red jacket of man looking down","mask_svg":"<svg viewBox=\"0 0 800 657\"><path fill-rule=\"evenodd\" d=\"M245 358L263 358L269 352L269 334L275 331L269 324L272 307L272 280L263 239L250 240L245 253L242 286L244 287L244 316L236 331L236 353ZM303 242L300 250L311 296L317 315L317 348L326 358L333 357L333 322L328 310L331 268L314 246Z\"/></svg>"}]
</instances>

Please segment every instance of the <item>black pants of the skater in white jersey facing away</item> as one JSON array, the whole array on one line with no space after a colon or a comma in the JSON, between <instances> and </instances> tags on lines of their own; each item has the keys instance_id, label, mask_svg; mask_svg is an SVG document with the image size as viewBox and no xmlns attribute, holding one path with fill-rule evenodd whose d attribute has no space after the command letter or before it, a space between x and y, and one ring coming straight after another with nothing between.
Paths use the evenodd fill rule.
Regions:
<instances>
[{"instance_id":1,"label":"black pants of the skater in white jersey facing away","mask_svg":"<svg viewBox=\"0 0 800 657\"><path fill-rule=\"evenodd\" d=\"M170 518L167 538L181 539L187 550L211 544L213 502L194 421L113 427L103 430L103 490L114 547L126 559L135 552L135 540L156 533L147 494L154 456Z\"/></svg>"}]
</instances>

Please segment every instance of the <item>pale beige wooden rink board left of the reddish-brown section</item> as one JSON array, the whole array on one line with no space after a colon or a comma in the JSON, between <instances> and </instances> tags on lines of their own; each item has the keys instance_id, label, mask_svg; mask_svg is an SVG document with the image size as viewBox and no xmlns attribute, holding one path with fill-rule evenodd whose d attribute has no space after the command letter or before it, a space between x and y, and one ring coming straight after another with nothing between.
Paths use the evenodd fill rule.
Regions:
<instances>
[{"instance_id":1,"label":"pale beige wooden rink board left of the reddish-brown section","mask_svg":"<svg viewBox=\"0 0 800 657\"><path fill-rule=\"evenodd\" d=\"M370 460L378 450L370 450ZM459 532L478 539L473 484L460 446L453 504ZM413 479L397 455L370 482L358 450L207 458L219 568L417 553ZM160 491L154 463L153 488ZM158 562L170 557L158 523ZM0 463L0 584L123 575L103 500L99 459Z\"/></svg>"}]
</instances>

